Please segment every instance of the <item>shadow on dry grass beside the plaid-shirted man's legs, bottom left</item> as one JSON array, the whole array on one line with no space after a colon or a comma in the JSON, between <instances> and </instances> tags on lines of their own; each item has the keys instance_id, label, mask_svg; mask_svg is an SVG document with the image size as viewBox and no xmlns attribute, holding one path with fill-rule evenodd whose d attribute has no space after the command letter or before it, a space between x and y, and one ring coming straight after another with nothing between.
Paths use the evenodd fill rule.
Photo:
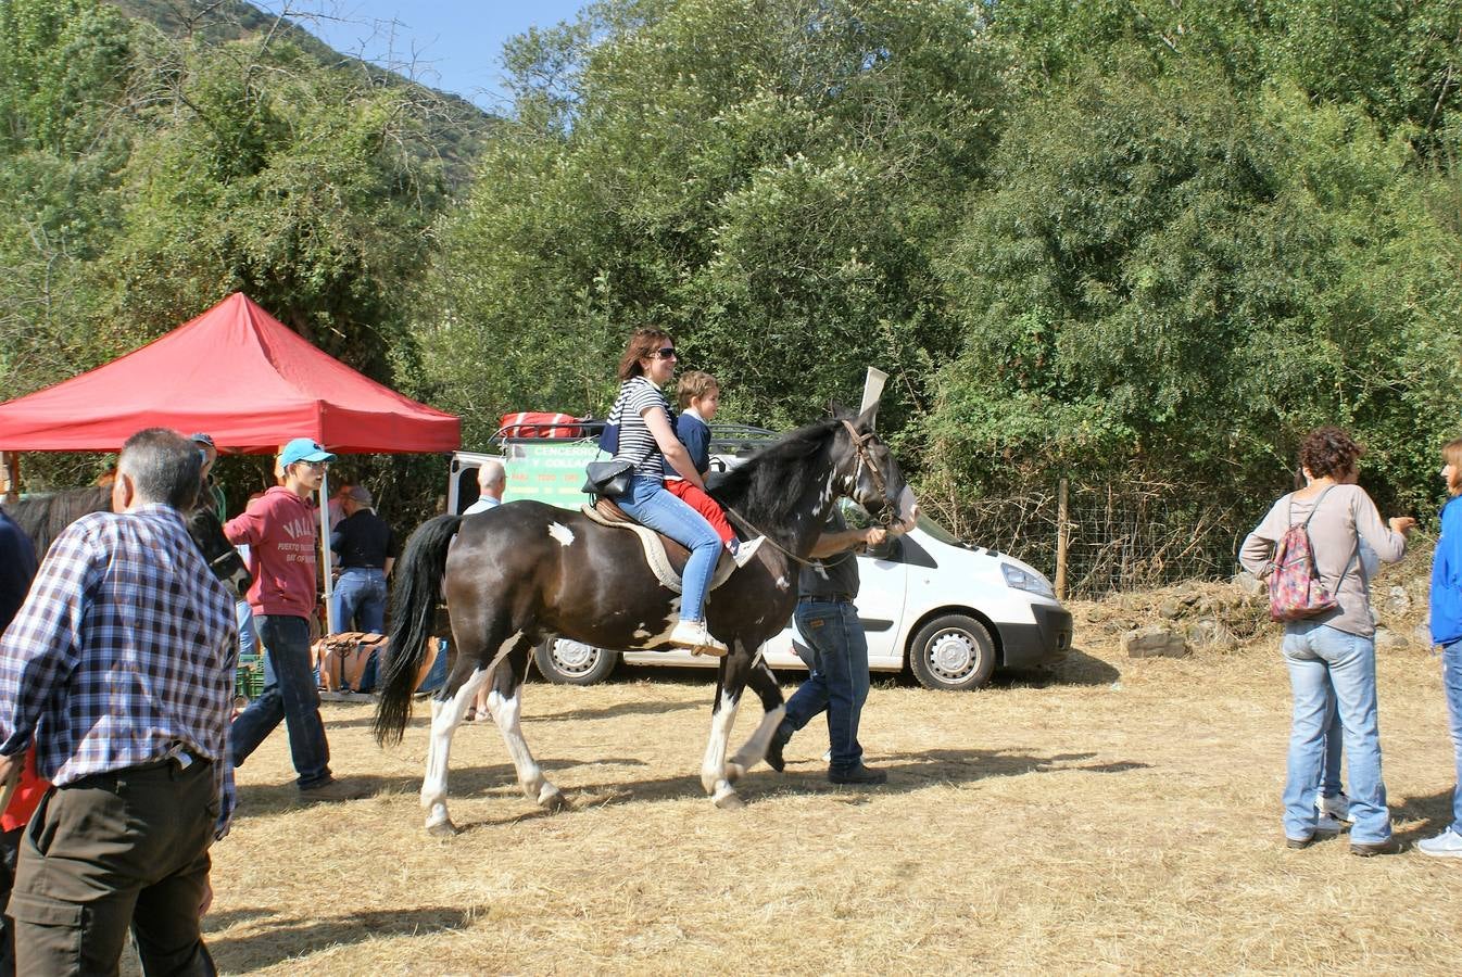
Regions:
<instances>
[{"instance_id":1,"label":"shadow on dry grass beside the plaid-shirted man's legs, bottom left","mask_svg":"<svg viewBox=\"0 0 1462 977\"><path fill-rule=\"evenodd\" d=\"M212 938L208 933L225 930L235 923L273 917L257 933ZM208 949L221 973L238 974L263 970L273 964L308 954L360 943L376 936L412 935L466 929L472 924L471 910L431 905L418 910L389 913L352 913L326 919L279 917L273 910L235 910L206 919L203 930ZM303 971L301 971L303 973Z\"/></svg>"}]
</instances>

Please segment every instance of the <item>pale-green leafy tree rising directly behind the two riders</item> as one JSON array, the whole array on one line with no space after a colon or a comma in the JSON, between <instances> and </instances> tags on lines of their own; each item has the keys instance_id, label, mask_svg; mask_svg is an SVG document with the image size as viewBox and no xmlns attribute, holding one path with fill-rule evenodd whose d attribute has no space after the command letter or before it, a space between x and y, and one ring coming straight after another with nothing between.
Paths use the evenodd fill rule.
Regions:
<instances>
[{"instance_id":1,"label":"pale-green leafy tree rising directly behind the two riders","mask_svg":"<svg viewBox=\"0 0 1462 977\"><path fill-rule=\"evenodd\" d=\"M991 146L965 4L607 3L509 64L520 124L443 228L421 327L455 407L602 410L646 321L741 419L807 421L868 362L892 418L927 396L955 339L925 248Z\"/></svg>"}]
</instances>

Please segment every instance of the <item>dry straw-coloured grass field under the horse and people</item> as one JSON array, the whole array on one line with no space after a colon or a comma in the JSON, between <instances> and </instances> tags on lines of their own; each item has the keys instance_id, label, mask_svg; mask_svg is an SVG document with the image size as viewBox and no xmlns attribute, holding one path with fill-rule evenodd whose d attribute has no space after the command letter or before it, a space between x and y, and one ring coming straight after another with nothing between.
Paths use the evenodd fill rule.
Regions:
<instances>
[{"instance_id":1,"label":"dry straw-coloured grass field under the horse and people","mask_svg":"<svg viewBox=\"0 0 1462 977\"><path fill-rule=\"evenodd\" d=\"M525 733L575 809L539 813L496 727L463 726L452 841L421 830L421 716L380 751L368 705L326 705L336 773L376 796L295 806L281 729L215 848L213 955L351 976L1458 971L1462 862L1284 847L1276 637L1183 660L1077 644L1045 688L880 681L863 742L886 787L830 786L814 724L738 812L700 790L709 673L535 682ZM1380 710L1415 841L1453 781L1428 651L1383 656Z\"/></svg>"}]
</instances>

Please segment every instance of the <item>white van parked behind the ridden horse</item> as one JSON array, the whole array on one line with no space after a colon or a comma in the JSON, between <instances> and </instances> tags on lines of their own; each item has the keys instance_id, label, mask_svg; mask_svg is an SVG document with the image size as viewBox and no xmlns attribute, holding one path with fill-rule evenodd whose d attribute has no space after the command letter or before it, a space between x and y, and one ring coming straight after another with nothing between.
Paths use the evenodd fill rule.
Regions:
<instances>
[{"instance_id":1,"label":"white van parked behind the ridden horse","mask_svg":"<svg viewBox=\"0 0 1462 977\"><path fill-rule=\"evenodd\" d=\"M735 454L754 444L754 440L727 442L715 431L712 437L713 447L730 447ZM504 463L509 473L504 501L532 497L573 507L586 501L576 489L592 448L585 456L582 450L567 450L582 442L558 442L545 464L563 469L560 485L545 489L553 478L532 457L541 444L504 442L501 454L455 453L447 511L461 513L477 499L477 469L484 459ZM719 454L713 464L734 466L735 454ZM567 456L573 456L572 464ZM849 521L860 513L849 513ZM1044 575L1013 556L959 542L927 516L909 533L860 555L858 575L858 619L868 638L868 667L876 672L908 667L925 688L974 689L985 685L996 667L1045 667L1072 647L1072 615ZM806 669L797 645L797 632L788 622L763 645L768 664ZM602 681L620 659L633 664L716 664L715 659L689 651L620 651L566 638L548 638L534 653L544 678L572 685Z\"/></svg>"}]
</instances>

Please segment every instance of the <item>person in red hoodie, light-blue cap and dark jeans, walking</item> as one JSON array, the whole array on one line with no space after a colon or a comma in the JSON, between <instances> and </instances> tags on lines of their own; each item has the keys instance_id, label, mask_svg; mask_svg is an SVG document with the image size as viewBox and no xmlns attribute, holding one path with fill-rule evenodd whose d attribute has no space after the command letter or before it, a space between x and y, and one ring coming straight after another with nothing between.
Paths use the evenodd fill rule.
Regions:
<instances>
[{"instance_id":1,"label":"person in red hoodie, light-blue cap and dark jeans, walking","mask_svg":"<svg viewBox=\"0 0 1462 977\"><path fill-rule=\"evenodd\" d=\"M310 497L320 489L335 456L310 438L295 438L279 451L284 485L249 502L241 516L224 526L228 542L249 543L254 583L249 606L259 640L269 650L273 679L263 694L240 713L228 732L234 767L243 767L284 720L289 756L298 773L300 797L349 800L361 792L330 775L330 745L320 720L320 691L310 664L310 613L319 575L316 546L319 511Z\"/></svg>"}]
</instances>

